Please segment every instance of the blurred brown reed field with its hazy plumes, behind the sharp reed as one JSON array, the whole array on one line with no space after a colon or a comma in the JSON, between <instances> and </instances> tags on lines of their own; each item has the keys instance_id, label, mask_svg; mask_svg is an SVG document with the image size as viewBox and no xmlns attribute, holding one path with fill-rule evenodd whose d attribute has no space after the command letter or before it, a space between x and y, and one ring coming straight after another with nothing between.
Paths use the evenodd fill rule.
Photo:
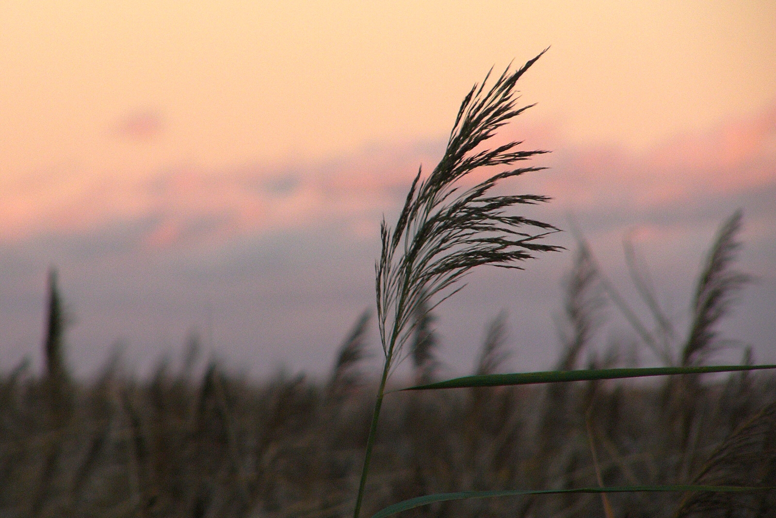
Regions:
<instances>
[{"instance_id":1,"label":"blurred brown reed field with its hazy plumes, behind the sharp reed","mask_svg":"<svg viewBox=\"0 0 776 518\"><path fill-rule=\"evenodd\" d=\"M681 348L670 349L667 320L650 332L677 363L700 364L721 343L715 325L744 280L733 269L739 223L736 214L723 224L709 252L690 329L672 332ZM138 380L116 361L85 383L68 376L67 319L53 273L49 282L45 373L20 365L0 383L0 516L352 513L376 383L359 369L372 346L369 312L346 335L327 381L230 375L200 364L192 341L182 367L160 363ZM630 361L630 343L602 349L594 339L612 298L607 284L580 245L559 322L559 370ZM418 318L414 375L433 381L443 344L433 317ZM473 374L500 371L510 353L504 322L497 315L487 326ZM369 516L434 492L594 486L596 471L606 486L776 485L776 377L389 394L363 509ZM610 494L607 510L599 495L541 495L440 502L401 516L776 516L774 500L773 492Z\"/></svg>"}]
</instances>

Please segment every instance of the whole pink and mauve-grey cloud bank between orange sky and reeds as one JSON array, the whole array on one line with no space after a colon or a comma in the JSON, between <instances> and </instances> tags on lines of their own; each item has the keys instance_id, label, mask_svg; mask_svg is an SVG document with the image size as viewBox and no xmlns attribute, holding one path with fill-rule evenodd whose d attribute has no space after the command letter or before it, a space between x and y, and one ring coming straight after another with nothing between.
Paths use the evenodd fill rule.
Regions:
<instances>
[{"instance_id":1,"label":"whole pink and mauve-grey cloud bank between orange sky and reeds","mask_svg":"<svg viewBox=\"0 0 776 518\"><path fill-rule=\"evenodd\" d=\"M141 119L125 121L127 137L146 138L161 124ZM570 214L623 285L620 241L630 232L677 318L716 225L743 208L743 265L759 284L735 322L760 356L776 354L776 105L639 152L574 148L552 124L517 123L499 138L513 136L554 150L535 164L549 169L510 185L553 196L532 214L565 228ZM322 162L219 169L59 165L0 179L7 222L0 229L0 368L37 358L43 278L57 265L78 317L71 362L79 372L99 365L116 340L142 368L195 328L210 336L214 354L256 374L280 363L325 370L352 319L372 305L381 217L390 221L418 165L431 169L444 144L381 144ZM573 248L569 235L558 239ZM546 367L555 342L550 316L570 259L542 258L518 276L473 276L441 310L450 370L466 370L472 342L500 308L512 315L518 367ZM535 290L547 297L532 298Z\"/></svg>"}]
</instances>

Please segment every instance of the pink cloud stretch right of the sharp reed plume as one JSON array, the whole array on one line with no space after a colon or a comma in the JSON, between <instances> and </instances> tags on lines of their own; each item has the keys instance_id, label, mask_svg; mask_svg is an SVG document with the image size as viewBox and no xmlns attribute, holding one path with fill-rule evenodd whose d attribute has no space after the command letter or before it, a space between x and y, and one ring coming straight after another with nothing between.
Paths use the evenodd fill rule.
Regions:
<instances>
[{"instance_id":1,"label":"pink cloud stretch right of the sharp reed plume","mask_svg":"<svg viewBox=\"0 0 776 518\"><path fill-rule=\"evenodd\" d=\"M543 187L574 209L625 204L636 210L732 196L776 183L776 105L639 153L562 143L553 148L559 151L549 161L557 171Z\"/></svg>"}]
</instances>

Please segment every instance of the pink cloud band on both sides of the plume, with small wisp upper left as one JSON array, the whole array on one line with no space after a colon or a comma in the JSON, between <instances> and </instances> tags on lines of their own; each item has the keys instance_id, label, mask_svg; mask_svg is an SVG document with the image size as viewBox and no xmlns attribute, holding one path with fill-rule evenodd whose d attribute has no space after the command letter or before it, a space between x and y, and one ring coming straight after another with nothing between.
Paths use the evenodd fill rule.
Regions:
<instances>
[{"instance_id":1,"label":"pink cloud band on both sides of the plume, with small wisp upper left","mask_svg":"<svg viewBox=\"0 0 776 518\"><path fill-rule=\"evenodd\" d=\"M126 127L153 127L153 117L144 116ZM641 153L571 148L547 124L514 127L498 138L506 141L513 134L525 138L525 148L556 150L525 162L552 169L518 182L521 189L556 197L566 209L638 210L776 183L776 106ZM151 248L320 224L341 224L362 234L376 227L381 214L396 210L418 165L431 172L441 151L442 142L404 144L320 163L220 170L184 166L142 175L69 168L4 180L0 217L10 224L0 239L83 233L109 221L148 218L157 221L144 240Z\"/></svg>"}]
</instances>

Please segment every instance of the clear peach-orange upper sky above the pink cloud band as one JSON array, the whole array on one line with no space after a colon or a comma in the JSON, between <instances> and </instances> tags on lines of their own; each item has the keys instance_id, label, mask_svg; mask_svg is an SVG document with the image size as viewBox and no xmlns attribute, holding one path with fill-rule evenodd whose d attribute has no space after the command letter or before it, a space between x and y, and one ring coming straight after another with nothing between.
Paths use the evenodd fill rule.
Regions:
<instances>
[{"instance_id":1,"label":"clear peach-orange upper sky above the pink cloud band","mask_svg":"<svg viewBox=\"0 0 776 518\"><path fill-rule=\"evenodd\" d=\"M487 68L552 50L525 100L643 148L776 99L776 4L0 5L3 176L321 157L444 134Z\"/></svg>"}]
</instances>

